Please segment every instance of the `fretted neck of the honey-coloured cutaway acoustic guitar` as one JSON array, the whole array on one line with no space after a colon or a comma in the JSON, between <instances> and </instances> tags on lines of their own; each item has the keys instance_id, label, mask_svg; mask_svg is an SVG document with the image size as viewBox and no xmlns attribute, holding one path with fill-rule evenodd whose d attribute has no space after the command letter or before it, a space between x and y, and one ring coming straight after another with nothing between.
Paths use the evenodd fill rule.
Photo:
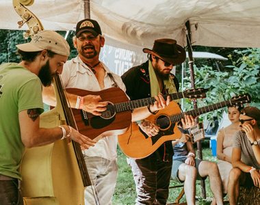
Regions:
<instances>
[{"instance_id":1,"label":"fretted neck of the honey-coloured cutaway acoustic guitar","mask_svg":"<svg viewBox=\"0 0 260 205\"><path fill-rule=\"evenodd\" d=\"M171 115L170 121L173 122L173 123L174 122L180 122L181 118L184 118L184 115L192 115L193 117L196 117L198 115L201 115L201 114L204 114L204 113L209 113L209 112L214 111L216 109L220 109L222 107L228 107L230 105L232 105L230 100L218 102L218 103L213 104L213 105L200 107L198 109L194 109L194 110L187 111L187 112L184 112L184 113L179 113L177 115Z\"/></svg>"}]
</instances>

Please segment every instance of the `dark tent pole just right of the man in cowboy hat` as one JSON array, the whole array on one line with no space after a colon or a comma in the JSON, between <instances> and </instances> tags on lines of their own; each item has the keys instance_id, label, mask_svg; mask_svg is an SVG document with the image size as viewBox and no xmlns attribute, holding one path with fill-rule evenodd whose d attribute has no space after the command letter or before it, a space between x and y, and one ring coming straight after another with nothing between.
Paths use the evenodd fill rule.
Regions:
<instances>
[{"instance_id":1,"label":"dark tent pole just right of the man in cowboy hat","mask_svg":"<svg viewBox=\"0 0 260 205\"><path fill-rule=\"evenodd\" d=\"M196 88L195 87L195 78L194 78L194 68L193 68L193 64L194 64L194 58L192 55L192 34L190 31L190 21L187 20L187 22L185 23L186 26L186 40L187 40L187 53L189 56L189 68L190 68L190 80L191 80L191 84L192 84L192 88ZM197 105L197 100L194 99L193 100L193 107L194 109L198 108ZM198 122L198 118L196 118L196 122ZM203 152L202 152L202 148L201 148L201 142L200 140L197 141L197 153L198 153L198 159L203 159ZM205 180L200 180L200 185L201 185L201 193L203 195L203 198L206 198L206 189L205 189Z\"/></svg>"}]
</instances>

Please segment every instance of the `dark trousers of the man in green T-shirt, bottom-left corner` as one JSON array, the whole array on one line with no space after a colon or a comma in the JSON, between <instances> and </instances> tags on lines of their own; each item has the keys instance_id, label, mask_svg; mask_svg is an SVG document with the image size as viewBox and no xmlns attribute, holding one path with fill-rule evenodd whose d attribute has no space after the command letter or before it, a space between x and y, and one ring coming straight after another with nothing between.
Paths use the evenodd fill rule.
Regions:
<instances>
[{"instance_id":1,"label":"dark trousers of the man in green T-shirt, bottom-left corner","mask_svg":"<svg viewBox=\"0 0 260 205\"><path fill-rule=\"evenodd\" d=\"M23 205L18 189L18 180L0 180L0 204Z\"/></svg>"}]
</instances>

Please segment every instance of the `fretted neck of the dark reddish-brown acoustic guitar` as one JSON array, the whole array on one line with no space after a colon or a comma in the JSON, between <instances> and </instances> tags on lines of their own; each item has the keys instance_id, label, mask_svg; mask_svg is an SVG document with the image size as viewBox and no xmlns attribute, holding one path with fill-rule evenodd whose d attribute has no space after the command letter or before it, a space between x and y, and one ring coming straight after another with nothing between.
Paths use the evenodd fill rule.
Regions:
<instances>
[{"instance_id":1,"label":"fretted neck of the dark reddish-brown acoustic guitar","mask_svg":"<svg viewBox=\"0 0 260 205\"><path fill-rule=\"evenodd\" d=\"M163 95L165 100L167 99L167 96L170 96L171 100L185 98L183 92L177 92L174 94L165 94ZM122 111L133 110L139 107L146 107L147 105L153 105L155 101L156 101L155 98L144 98L139 100L131 100L129 102L121 102L114 106L116 107L116 112L122 112Z\"/></svg>"}]
</instances>

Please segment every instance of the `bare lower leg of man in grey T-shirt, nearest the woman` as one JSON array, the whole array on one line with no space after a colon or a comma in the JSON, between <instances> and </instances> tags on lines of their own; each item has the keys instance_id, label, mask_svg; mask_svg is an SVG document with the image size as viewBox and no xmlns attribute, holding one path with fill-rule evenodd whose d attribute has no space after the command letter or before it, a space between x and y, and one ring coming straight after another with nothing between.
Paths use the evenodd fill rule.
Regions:
<instances>
[{"instance_id":1,"label":"bare lower leg of man in grey T-shirt, nearest the woman","mask_svg":"<svg viewBox=\"0 0 260 205\"><path fill-rule=\"evenodd\" d=\"M239 195L239 178L241 174L242 171L238 168L233 168L229 172L228 195L230 205L237 204Z\"/></svg>"}]
</instances>

